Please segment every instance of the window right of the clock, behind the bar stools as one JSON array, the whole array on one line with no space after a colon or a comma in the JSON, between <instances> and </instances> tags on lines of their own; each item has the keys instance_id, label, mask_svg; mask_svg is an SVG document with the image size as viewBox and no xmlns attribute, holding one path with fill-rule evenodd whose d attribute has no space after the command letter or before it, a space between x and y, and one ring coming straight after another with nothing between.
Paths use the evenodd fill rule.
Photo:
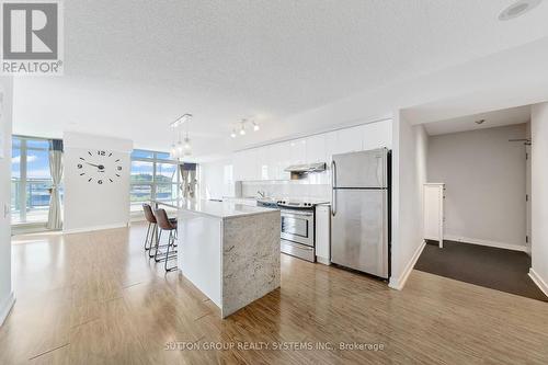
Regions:
<instances>
[{"instance_id":1,"label":"window right of the clock, behind the bar stools","mask_svg":"<svg viewBox=\"0 0 548 365\"><path fill-rule=\"evenodd\" d=\"M175 203L181 198L178 162L169 153L136 149L132 153L132 212L151 199Z\"/></svg>"}]
</instances>

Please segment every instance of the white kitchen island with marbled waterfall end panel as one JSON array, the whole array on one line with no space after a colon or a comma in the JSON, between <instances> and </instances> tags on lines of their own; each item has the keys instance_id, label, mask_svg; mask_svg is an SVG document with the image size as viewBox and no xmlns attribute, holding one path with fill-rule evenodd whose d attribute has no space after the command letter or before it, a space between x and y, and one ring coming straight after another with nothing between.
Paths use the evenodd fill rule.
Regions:
<instances>
[{"instance_id":1,"label":"white kitchen island with marbled waterfall end panel","mask_svg":"<svg viewBox=\"0 0 548 365\"><path fill-rule=\"evenodd\" d=\"M222 318L279 287L279 210L187 201L178 215L179 269Z\"/></svg>"}]
</instances>

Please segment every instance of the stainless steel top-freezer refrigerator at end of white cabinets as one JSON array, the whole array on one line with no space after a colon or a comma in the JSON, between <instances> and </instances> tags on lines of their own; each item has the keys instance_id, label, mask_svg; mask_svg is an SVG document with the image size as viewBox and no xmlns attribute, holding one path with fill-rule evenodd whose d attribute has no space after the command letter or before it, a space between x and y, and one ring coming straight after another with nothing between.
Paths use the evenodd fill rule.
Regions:
<instances>
[{"instance_id":1,"label":"stainless steel top-freezer refrigerator at end of white cabinets","mask_svg":"<svg viewBox=\"0 0 548 365\"><path fill-rule=\"evenodd\" d=\"M333 156L331 262L388 278L390 152Z\"/></svg>"}]
</instances>

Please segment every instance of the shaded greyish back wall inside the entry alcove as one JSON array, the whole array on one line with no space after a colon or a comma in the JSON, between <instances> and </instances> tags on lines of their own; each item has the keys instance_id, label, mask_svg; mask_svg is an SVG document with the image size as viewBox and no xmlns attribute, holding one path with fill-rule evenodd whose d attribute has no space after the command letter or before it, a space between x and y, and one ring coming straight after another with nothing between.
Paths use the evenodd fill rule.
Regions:
<instances>
[{"instance_id":1,"label":"shaded greyish back wall inside the entry alcove","mask_svg":"<svg viewBox=\"0 0 548 365\"><path fill-rule=\"evenodd\" d=\"M429 182L446 184L446 239L525 250L525 146L509 141L525 137L525 124L430 137Z\"/></svg>"}]
</instances>

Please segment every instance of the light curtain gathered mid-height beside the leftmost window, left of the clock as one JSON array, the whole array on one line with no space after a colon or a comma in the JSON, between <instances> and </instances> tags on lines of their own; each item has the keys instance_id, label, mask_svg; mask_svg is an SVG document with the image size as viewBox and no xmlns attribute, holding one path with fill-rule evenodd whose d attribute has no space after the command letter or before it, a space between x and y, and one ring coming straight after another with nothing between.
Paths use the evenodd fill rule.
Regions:
<instances>
[{"instance_id":1,"label":"light curtain gathered mid-height beside the leftmost window, left of the clock","mask_svg":"<svg viewBox=\"0 0 548 365\"><path fill-rule=\"evenodd\" d=\"M49 213L46 227L48 229L61 229L61 197L59 186L62 180L62 140L53 139L49 142L49 172L52 173L52 195L49 198Z\"/></svg>"}]
</instances>

